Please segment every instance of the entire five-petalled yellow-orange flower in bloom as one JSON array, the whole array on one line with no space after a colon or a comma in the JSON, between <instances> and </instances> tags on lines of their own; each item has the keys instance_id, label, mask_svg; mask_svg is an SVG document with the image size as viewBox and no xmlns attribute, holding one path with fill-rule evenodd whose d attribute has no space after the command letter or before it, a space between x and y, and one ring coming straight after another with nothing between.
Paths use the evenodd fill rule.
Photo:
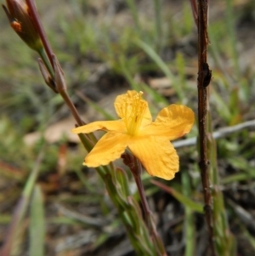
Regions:
<instances>
[{"instance_id":1,"label":"entire five-petalled yellow-orange flower in bloom","mask_svg":"<svg viewBox=\"0 0 255 256\"><path fill-rule=\"evenodd\" d=\"M91 122L74 128L75 134L96 130L107 133L88 153L84 165L99 167L121 157L128 148L152 176L173 179L178 172L178 155L169 140L190 132L194 112L184 105L168 105L152 122L147 101L142 92L127 91L116 97L115 108L121 118L116 121Z\"/></svg>"}]
</instances>

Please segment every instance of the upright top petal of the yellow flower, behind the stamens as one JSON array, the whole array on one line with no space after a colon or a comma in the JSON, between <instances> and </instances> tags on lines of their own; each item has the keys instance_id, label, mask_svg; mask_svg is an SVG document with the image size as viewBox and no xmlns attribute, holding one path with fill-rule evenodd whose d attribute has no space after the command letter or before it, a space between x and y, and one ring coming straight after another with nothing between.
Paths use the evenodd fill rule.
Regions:
<instances>
[{"instance_id":1,"label":"upright top petal of the yellow flower, behind the stamens","mask_svg":"<svg viewBox=\"0 0 255 256\"><path fill-rule=\"evenodd\" d=\"M141 127L144 127L152 122L152 117L148 102L141 99L141 95L142 92L127 91L127 94L116 97L114 106L118 117L122 119L132 117L134 112L139 112L142 115Z\"/></svg>"}]
</instances>

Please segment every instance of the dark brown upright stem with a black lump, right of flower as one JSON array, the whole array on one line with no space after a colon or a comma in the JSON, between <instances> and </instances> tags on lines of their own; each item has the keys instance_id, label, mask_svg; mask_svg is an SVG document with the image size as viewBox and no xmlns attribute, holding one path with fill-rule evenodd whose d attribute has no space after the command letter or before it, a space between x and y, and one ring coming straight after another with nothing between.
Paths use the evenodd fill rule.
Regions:
<instances>
[{"instance_id":1,"label":"dark brown upright stem with a black lump, right of flower","mask_svg":"<svg viewBox=\"0 0 255 256\"><path fill-rule=\"evenodd\" d=\"M201 182L205 201L205 216L209 232L209 243L212 256L215 256L213 243L213 220L211 207L211 191L208 174L207 159L207 87L211 81L211 71L207 64L207 0L198 0L198 127L199 127L199 145Z\"/></svg>"}]
</instances>

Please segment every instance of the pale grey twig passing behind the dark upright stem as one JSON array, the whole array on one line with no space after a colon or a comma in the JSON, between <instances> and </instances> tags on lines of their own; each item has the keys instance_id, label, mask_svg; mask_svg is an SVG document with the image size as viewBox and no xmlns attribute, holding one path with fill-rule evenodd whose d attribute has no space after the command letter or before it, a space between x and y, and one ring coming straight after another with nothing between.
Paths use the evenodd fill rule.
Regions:
<instances>
[{"instance_id":1,"label":"pale grey twig passing behind the dark upright stem","mask_svg":"<svg viewBox=\"0 0 255 256\"><path fill-rule=\"evenodd\" d=\"M219 138L225 137L228 134L233 134L245 128L253 128L253 127L255 127L255 120L241 122L234 126L219 128L218 131L212 133L212 137L213 139L219 139ZM189 139L181 139L181 140L174 141L173 146L175 148L180 148L183 146L195 145L195 143L196 143L196 137L193 137Z\"/></svg>"}]
</instances>

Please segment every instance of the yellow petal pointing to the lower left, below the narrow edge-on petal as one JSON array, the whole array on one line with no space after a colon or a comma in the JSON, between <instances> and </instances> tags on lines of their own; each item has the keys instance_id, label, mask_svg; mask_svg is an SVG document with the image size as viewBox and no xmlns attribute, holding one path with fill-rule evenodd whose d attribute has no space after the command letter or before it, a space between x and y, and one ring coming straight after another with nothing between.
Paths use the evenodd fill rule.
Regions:
<instances>
[{"instance_id":1,"label":"yellow petal pointing to the lower left, below the narrow edge-on petal","mask_svg":"<svg viewBox=\"0 0 255 256\"><path fill-rule=\"evenodd\" d=\"M115 161L125 151L129 139L130 136L127 134L116 134L115 132L105 134L85 157L83 164L88 167L99 167Z\"/></svg>"}]
</instances>

